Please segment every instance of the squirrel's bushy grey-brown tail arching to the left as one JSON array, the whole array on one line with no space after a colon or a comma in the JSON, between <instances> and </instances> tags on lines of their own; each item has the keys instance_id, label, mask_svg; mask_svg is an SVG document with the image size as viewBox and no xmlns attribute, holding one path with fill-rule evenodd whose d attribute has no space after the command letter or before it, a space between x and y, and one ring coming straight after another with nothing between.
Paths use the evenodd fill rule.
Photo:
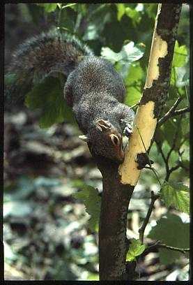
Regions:
<instances>
[{"instance_id":1,"label":"squirrel's bushy grey-brown tail arching to the left","mask_svg":"<svg viewBox=\"0 0 193 285\"><path fill-rule=\"evenodd\" d=\"M74 36L52 29L19 45L5 78L8 105L24 97L33 84L52 73L67 78L82 56L93 52Z\"/></svg>"}]
</instances>

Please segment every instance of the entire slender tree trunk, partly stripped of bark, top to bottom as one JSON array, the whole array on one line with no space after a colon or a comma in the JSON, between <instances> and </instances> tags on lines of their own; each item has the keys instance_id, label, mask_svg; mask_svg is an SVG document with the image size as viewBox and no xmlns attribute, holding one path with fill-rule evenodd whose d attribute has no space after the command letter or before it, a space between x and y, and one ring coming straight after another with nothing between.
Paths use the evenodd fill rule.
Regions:
<instances>
[{"instance_id":1,"label":"entire slender tree trunk, partly stripped of bark, top to bottom","mask_svg":"<svg viewBox=\"0 0 193 285\"><path fill-rule=\"evenodd\" d=\"M137 154L144 154L145 148L150 146L160 110L167 98L180 10L180 4L158 6L146 85L134 119L125 161L119 168L121 177L116 163L93 154L102 173L103 184L99 228L100 280L133 279L133 263L126 263L125 257L128 251L128 206L141 173L136 159Z\"/></svg>"}]
</instances>

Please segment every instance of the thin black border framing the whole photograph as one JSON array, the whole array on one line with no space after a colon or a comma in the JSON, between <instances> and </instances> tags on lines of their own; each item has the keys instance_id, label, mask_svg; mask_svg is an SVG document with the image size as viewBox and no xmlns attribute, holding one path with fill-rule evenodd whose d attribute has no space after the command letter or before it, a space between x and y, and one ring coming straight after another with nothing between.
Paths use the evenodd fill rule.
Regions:
<instances>
[{"instance_id":1,"label":"thin black border framing the whole photograph","mask_svg":"<svg viewBox=\"0 0 193 285\"><path fill-rule=\"evenodd\" d=\"M4 90L4 80L3 80L3 71L4 71L4 37L5 37L5 31L4 31L4 23L5 23L5 4L6 3L54 3L55 1L3 1L0 2L0 29L1 29L1 37L0 37L0 48L1 48L1 67L0 67L0 75L1 75L1 101L0 101L0 119L1 119L1 128L0 128L0 133L1 133L1 191L0 191L0 218L1 218L1 229L0 229L0 238L1 238L1 243L0 243L0 281L4 280L4 254L3 254L3 128L4 128L4 120L3 120L3 90ZM60 2L60 1L59 1ZM61 1L62 2L62 1ZM91 3L91 1L65 1L65 3ZM192 172L191 170L193 169L193 161L192 161L192 141L193 141L193 129L192 129L192 122L193 122L193 115L192 115L192 104L193 104L193 98L192 98L192 90L193 90L193 71L192 71L192 54L193 54L193 5L191 1L178 1L178 0L161 0L161 1L92 1L93 3L187 3L190 6L190 281L185 282L190 283L193 281L193 265L192 265L192 251L193 251L193 225L192 225L192 215L193 215L193 189L192 189ZM37 280L37 281L4 281L4 284L20 284L23 282L33 282L33 283L47 283L47 284L82 284L84 282L90 283L89 281L59 281L59 280ZM118 284L128 284L128 282L118 282ZM166 281L164 281L166 282ZM92 281L93 283L102 283L102 284L114 284L115 282L97 282L97 281ZM146 282L145 282L146 283ZM151 282L151 283L160 283L160 282ZM167 282L168 283L168 282ZM181 284L182 282L175 282L175 284ZM137 282L132 282L132 284L137 284Z\"/></svg>"}]
</instances>

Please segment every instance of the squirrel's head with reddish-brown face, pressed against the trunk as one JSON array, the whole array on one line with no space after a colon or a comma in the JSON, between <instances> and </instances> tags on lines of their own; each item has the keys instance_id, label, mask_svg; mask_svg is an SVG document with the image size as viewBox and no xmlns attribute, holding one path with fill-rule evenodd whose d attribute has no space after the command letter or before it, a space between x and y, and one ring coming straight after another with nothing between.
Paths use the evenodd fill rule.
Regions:
<instances>
[{"instance_id":1,"label":"squirrel's head with reddish-brown face, pressed against the trunk","mask_svg":"<svg viewBox=\"0 0 193 285\"><path fill-rule=\"evenodd\" d=\"M79 136L79 138L89 142L95 154L118 161L118 163L123 162L122 136L110 122L98 119L91 131L86 136Z\"/></svg>"}]
</instances>

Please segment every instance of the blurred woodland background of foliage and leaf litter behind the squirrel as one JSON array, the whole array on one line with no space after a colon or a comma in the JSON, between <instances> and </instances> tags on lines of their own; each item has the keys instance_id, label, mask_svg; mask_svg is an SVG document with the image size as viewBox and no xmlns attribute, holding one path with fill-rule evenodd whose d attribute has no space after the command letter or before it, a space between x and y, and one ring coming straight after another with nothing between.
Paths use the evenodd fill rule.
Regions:
<instances>
[{"instance_id":1,"label":"blurred woodland background of foliage and leaf litter behind the squirrel","mask_svg":"<svg viewBox=\"0 0 193 285\"><path fill-rule=\"evenodd\" d=\"M61 27L86 41L96 55L109 49L118 53L123 45L134 42L142 50L140 60L132 61L127 72L115 63L123 75L128 96L125 103L139 101L146 80L146 68L153 36L157 4L6 4L5 67L11 55L26 38ZM183 5L178 29L178 54L175 80L171 78L167 112L180 94L179 108L188 103L189 80L189 6ZM106 48L106 49L105 49ZM133 54L132 54L133 55ZM177 57L177 55L176 55ZM140 57L139 57L140 58ZM179 62L183 63L179 64ZM176 69L175 69L176 68ZM173 76L173 75L172 75ZM88 227L89 216L81 199L72 196L85 185L102 191L101 175L70 110L63 122L40 128L40 111L30 110L17 102L5 110L4 136L4 202L3 240L5 279L98 280L98 228ZM171 119L157 133L163 152L169 152L173 136L178 143L171 152L170 165L180 157L180 167L171 173L171 181L189 185L189 116ZM183 154L182 154L183 153ZM150 159L163 181L166 168L157 145L153 144ZM144 170L134 189L128 212L128 237L139 238L138 230L146 217L150 191L158 191L153 173ZM167 217L167 235L160 222ZM173 226L175 224L175 227ZM189 216L170 210L157 200L145 232L146 244L162 238L176 247L189 247ZM149 235L149 237L148 237ZM176 240L178 236L178 240ZM168 239L168 240L167 240ZM188 256L180 252L155 249L138 260L139 280L187 280Z\"/></svg>"}]
</instances>

